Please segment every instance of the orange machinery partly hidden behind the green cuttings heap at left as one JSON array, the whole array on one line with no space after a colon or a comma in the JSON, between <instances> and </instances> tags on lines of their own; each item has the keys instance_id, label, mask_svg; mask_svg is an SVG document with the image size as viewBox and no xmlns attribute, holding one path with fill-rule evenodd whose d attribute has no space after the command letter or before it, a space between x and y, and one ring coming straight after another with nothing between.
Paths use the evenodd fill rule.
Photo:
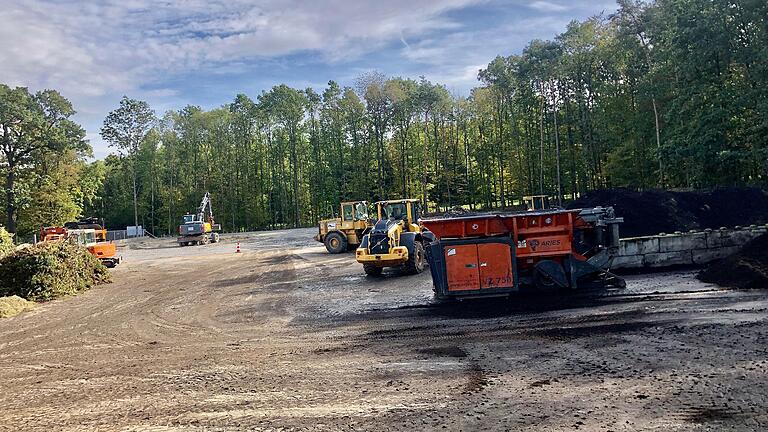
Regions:
<instances>
[{"instance_id":1,"label":"orange machinery partly hidden behind the green cuttings heap at left","mask_svg":"<svg viewBox=\"0 0 768 432\"><path fill-rule=\"evenodd\" d=\"M107 267L115 267L123 261L122 257L117 256L115 244L107 241L104 223L97 218L81 219L67 222L63 227L45 227L40 230L41 242L62 240L82 245Z\"/></svg>"}]
</instances>

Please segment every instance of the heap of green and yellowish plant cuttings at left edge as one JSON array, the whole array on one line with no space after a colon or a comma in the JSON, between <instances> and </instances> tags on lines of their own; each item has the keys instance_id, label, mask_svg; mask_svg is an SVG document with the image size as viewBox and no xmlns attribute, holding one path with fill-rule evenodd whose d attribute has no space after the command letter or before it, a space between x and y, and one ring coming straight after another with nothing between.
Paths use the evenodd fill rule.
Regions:
<instances>
[{"instance_id":1,"label":"heap of green and yellowish plant cuttings at left edge","mask_svg":"<svg viewBox=\"0 0 768 432\"><path fill-rule=\"evenodd\" d=\"M111 275L101 261L68 242L41 243L0 259L0 296L46 301L108 282Z\"/></svg>"}]
</instances>

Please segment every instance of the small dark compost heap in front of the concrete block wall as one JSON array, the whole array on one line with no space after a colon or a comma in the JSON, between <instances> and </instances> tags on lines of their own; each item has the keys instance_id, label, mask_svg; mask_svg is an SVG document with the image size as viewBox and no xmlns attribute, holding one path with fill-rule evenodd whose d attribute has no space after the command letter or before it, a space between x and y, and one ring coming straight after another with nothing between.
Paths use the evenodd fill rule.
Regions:
<instances>
[{"instance_id":1,"label":"small dark compost heap in front of the concrete block wall","mask_svg":"<svg viewBox=\"0 0 768 432\"><path fill-rule=\"evenodd\" d=\"M731 288L768 288L768 234L745 244L735 254L701 271L703 282Z\"/></svg>"}]
</instances>

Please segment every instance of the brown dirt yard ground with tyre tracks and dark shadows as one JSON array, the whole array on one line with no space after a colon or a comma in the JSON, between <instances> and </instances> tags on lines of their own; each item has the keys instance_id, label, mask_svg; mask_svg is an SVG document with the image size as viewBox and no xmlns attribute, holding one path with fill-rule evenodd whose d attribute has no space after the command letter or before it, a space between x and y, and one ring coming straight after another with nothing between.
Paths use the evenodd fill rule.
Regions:
<instances>
[{"instance_id":1,"label":"brown dirt yard ground with tyre tracks and dark shadows","mask_svg":"<svg viewBox=\"0 0 768 432\"><path fill-rule=\"evenodd\" d=\"M113 284L0 320L0 430L768 428L768 290L438 305L313 234L133 243Z\"/></svg>"}]
</instances>

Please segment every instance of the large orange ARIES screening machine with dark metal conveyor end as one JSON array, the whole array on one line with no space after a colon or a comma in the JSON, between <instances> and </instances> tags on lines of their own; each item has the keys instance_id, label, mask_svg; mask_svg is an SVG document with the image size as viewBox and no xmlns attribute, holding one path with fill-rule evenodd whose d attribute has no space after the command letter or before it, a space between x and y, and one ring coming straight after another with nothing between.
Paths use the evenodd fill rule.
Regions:
<instances>
[{"instance_id":1,"label":"large orange ARIES screening machine with dark metal conveyor end","mask_svg":"<svg viewBox=\"0 0 768 432\"><path fill-rule=\"evenodd\" d=\"M422 223L437 241L428 249L438 299L623 287L610 273L622 218L613 208L485 214Z\"/></svg>"}]
</instances>

